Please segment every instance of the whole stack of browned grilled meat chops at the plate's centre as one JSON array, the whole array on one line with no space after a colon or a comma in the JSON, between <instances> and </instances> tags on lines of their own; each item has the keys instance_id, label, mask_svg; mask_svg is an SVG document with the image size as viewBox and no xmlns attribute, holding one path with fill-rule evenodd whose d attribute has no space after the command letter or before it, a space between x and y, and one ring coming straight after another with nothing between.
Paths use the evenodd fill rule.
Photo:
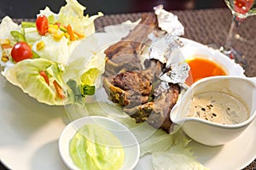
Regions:
<instances>
[{"instance_id":1,"label":"whole stack of browned grilled meat chops at the plate's centre","mask_svg":"<svg viewBox=\"0 0 256 170\"><path fill-rule=\"evenodd\" d=\"M157 26L154 14L144 14L142 21L120 42L106 49L107 62L103 88L108 99L120 105L136 122L148 122L167 133L172 130L170 111L176 104L180 88L169 83L160 88L163 66L159 60L146 59L144 70L138 58L148 43L148 34Z\"/></svg>"}]
</instances>

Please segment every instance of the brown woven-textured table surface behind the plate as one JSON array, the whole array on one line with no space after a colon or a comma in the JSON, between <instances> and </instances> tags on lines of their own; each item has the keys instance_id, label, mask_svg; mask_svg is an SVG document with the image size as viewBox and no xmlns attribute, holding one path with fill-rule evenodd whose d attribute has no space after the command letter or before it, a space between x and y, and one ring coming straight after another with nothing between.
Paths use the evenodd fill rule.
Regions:
<instances>
[{"instance_id":1,"label":"brown woven-textured table surface behind the plate","mask_svg":"<svg viewBox=\"0 0 256 170\"><path fill-rule=\"evenodd\" d=\"M227 8L212 8L198 10L174 10L178 19L185 28L183 37L189 38L202 44L214 43L218 47L222 46L227 37L231 13ZM135 14L109 14L95 20L96 30L104 26L116 25L125 20L135 21L140 18L142 13ZM238 30L239 38L233 43L233 46L247 56L247 68L245 74L247 77L256 77L256 16L248 17L243 21ZM30 19L26 19L30 20ZM20 22L20 20L15 20ZM238 36L237 36L238 37ZM1 166L0 166L1 167ZM256 160L244 169L256 169Z\"/></svg>"}]
</instances>

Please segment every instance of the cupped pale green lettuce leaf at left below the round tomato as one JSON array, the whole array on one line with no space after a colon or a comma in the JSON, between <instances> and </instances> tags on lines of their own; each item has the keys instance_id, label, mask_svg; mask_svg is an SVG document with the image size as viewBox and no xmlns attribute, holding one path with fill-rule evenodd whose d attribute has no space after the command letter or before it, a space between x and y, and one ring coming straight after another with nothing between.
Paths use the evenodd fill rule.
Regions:
<instances>
[{"instance_id":1,"label":"cupped pale green lettuce leaf at left below the round tomato","mask_svg":"<svg viewBox=\"0 0 256 170\"><path fill-rule=\"evenodd\" d=\"M53 85L49 86L44 77L40 76L40 71L47 71L49 78L57 81L63 89L64 83L61 80L61 70L59 65L47 59L25 59L3 71L3 76L20 87L24 93L29 94L39 102L48 105L63 105L67 101L57 98Z\"/></svg>"}]
</instances>

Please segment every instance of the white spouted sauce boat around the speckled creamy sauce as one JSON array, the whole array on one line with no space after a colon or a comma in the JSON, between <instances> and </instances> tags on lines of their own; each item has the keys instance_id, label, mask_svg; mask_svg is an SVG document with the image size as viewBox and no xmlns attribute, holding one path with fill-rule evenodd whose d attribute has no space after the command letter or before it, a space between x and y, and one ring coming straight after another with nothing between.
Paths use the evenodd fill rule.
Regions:
<instances>
[{"instance_id":1,"label":"white spouted sauce boat around the speckled creamy sauce","mask_svg":"<svg viewBox=\"0 0 256 170\"><path fill-rule=\"evenodd\" d=\"M249 118L245 122L234 125L224 125L210 122L188 115L189 100L195 94L204 92L228 93L240 99L245 105ZM182 98L172 108L170 118L172 122L183 128L191 139L210 146L226 144L236 139L256 117L256 78L247 77L207 77L192 84Z\"/></svg>"}]
</instances>

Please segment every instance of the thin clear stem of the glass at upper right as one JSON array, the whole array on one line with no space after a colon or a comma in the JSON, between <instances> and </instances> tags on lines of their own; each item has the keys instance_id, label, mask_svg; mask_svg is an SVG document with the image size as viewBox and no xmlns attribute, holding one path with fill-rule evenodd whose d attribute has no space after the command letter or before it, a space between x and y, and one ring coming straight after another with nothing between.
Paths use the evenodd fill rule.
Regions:
<instances>
[{"instance_id":1,"label":"thin clear stem of the glass at upper right","mask_svg":"<svg viewBox=\"0 0 256 170\"><path fill-rule=\"evenodd\" d=\"M244 19L239 18L236 16L236 14L233 14L233 19L230 26L230 31L228 34L228 37L226 39L226 42L224 44L223 53L226 55L229 55L231 53L231 46L232 46L232 39L236 34L237 28L241 25L241 22Z\"/></svg>"}]
</instances>

